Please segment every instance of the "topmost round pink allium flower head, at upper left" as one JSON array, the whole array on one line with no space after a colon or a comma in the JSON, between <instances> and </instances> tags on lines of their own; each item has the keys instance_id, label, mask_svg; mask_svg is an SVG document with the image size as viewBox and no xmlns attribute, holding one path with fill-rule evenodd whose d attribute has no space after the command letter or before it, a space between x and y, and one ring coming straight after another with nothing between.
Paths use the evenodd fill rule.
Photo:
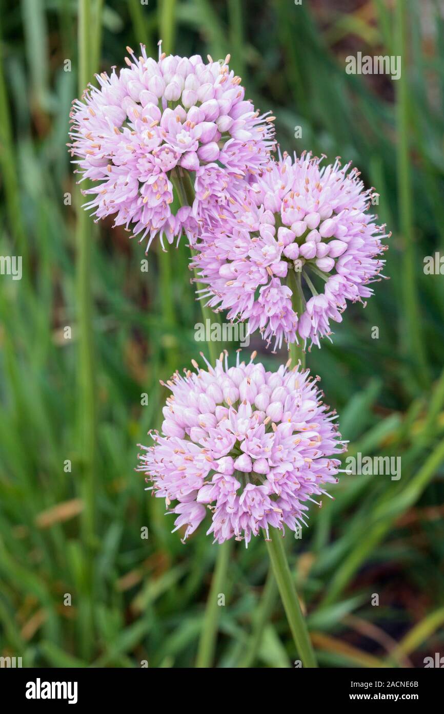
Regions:
<instances>
[{"instance_id":1,"label":"topmost round pink allium flower head, at upper left","mask_svg":"<svg viewBox=\"0 0 444 714\"><path fill-rule=\"evenodd\" d=\"M244 99L229 56L205 64L161 48L158 61L143 45L139 58L127 50L128 68L96 75L100 89L89 86L73 102L71 155L95 182L84 192L93 196L85 207L97 218L115 215L116 226L132 224L148 246L158 233L172 243L184 230L193 242L197 222L217 220L269 161L274 117L259 116ZM172 210L184 181L195 198Z\"/></svg>"}]
</instances>

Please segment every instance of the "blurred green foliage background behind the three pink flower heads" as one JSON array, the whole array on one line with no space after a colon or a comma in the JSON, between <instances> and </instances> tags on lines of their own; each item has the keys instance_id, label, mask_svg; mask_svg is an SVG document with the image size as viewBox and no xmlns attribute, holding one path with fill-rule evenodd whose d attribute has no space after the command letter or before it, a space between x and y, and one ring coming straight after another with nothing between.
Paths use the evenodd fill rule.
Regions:
<instances>
[{"instance_id":1,"label":"blurred green foliage background behind the three pink flower heads","mask_svg":"<svg viewBox=\"0 0 444 714\"><path fill-rule=\"evenodd\" d=\"M334 343L307 363L339 411L349 453L401 456L402 477L343 475L336 500L311 511L287 550L321 665L423 666L444 648L444 280L423 272L424 256L444 251L440 3L82 3L91 68L121 66L125 46L140 41L155 53L159 36L177 54L230 53L248 96L277 116L282 151L339 155L380 194L391 280L376 284L365 310L349 307ZM65 144L78 3L3 0L0 18L0 253L23 258L21 281L0 276L0 654L25 666L192 666L216 548L203 528L182 545L133 472L136 443L161 423L158 380L197 352L187 247L172 249L165 286L155 248L147 275L126 233L76 218ZM401 80L346 74L357 51L400 54ZM89 253L80 281L76 245ZM79 299L85 288L91 311ZM86 393L78 366L89 328ZM269 365L286 359L255 347ZM252 647L264 543L235 546L215 662L291 666L273 596Z\"/></svg>"}]
</instances>

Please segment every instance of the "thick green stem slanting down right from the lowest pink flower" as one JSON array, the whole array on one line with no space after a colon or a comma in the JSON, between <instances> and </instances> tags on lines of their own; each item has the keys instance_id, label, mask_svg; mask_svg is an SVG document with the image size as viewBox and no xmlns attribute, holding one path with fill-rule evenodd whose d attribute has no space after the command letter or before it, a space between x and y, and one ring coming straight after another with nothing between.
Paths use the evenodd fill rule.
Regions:
<instances>
[{"instance_id":1,"label":"thick green stem slanting down right from the lowest pink flower","mask_svg":"<svg viewBox=\"0 0 444 714\"><path fill-rule=\"evenodd\" d=\"M291 578L289 564L286 560L284 543L278 531L273 531L272 540L266 540L269 558L272 563L274 577L281 595L282 604L289 623L294 644L304 667L317 667L314 650L309 638L304 615L301 612L299 599Z\"/></svg>"}]
</instances>

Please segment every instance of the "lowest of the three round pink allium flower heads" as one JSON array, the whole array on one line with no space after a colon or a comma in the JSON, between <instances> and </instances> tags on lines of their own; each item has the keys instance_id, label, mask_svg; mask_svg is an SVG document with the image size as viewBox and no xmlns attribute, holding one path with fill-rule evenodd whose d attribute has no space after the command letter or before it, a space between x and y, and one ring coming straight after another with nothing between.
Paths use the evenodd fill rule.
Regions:
<instances>
[{"instance_id":1,"label":"lowest of the three round pink allium flower heads","mask_svg":"<svg viewBox=\"0 0 444 714\"><path fill-rule=\"evenodd\" d=\"M326 494L336 483L345 450L334 424L335 412L309 371L289 363L277 372L261 363L239 361L228 367L227 354L215 368L185 370L167 382L172 395L163 409L163 436L153 433L154 446L143 446L142 471L153 481L155 496L167 506L177 501L175 530L186 526L188 537L204 520L207 533L222 543L245 540L261 528L292 531L306 523L306 501ZM328 495L328 494L326 494ZM316 503L316 501L314 501Z\"/></svg>"}]
</instances>

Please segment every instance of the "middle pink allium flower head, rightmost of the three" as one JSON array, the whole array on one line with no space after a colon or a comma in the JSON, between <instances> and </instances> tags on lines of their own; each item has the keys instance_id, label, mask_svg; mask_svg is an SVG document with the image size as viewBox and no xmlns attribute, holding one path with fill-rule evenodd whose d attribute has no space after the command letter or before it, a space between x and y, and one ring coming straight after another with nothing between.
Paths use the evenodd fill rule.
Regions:
<instances>
[{"instance_id":1,"label":"middle pink allium flower head, rightmost of the three","mask_svg":"<svg viewBox=\"0 0 444 714\"><path fill-rule=\"evenodd\" d=\"M368 212L372 190L350 164L320 164L305 152L271 162L230 206L222 229L205 227L197 243L207 305L248 321L249 333L274 337L274 347L283 338L319 347L346 301L370 297L369 284L381 279L388 236Z\"/></svg>"}]
</instances>

